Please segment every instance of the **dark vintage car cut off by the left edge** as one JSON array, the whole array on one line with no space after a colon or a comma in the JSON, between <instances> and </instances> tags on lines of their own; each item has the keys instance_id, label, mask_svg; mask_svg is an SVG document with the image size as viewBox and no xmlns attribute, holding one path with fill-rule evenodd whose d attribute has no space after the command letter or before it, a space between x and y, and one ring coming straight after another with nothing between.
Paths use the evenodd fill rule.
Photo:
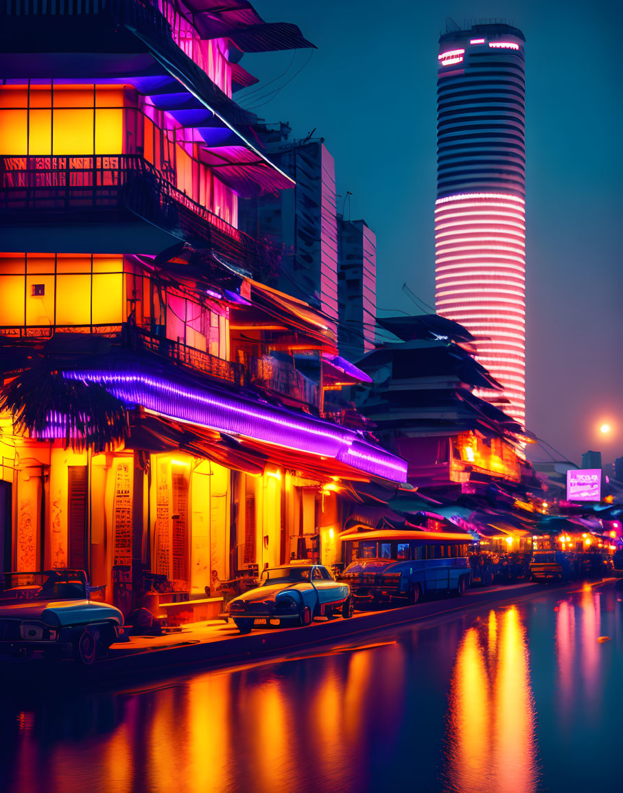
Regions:
<instances>
[{"instance_id":1,"label":"dark vintage car cut off by the left edge","mask_svg":"<svg viewBox=\"0 0 623 793\"><path fill-rule=\"evenodd\" d=\"M0 573L0 656L75 658L92 664L117 641L124 617L90 600L82 570Z\"/></svg>"}]
</instances>

